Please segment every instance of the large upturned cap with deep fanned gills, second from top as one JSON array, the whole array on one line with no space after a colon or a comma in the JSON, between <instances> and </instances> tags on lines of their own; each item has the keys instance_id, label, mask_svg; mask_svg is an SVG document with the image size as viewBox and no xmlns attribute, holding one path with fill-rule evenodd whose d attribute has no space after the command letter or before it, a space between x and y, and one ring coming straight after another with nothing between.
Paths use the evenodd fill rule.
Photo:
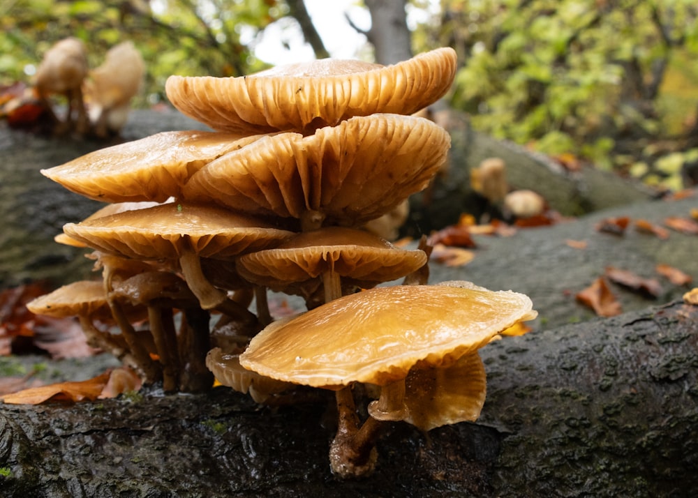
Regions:
<instances>
[{"instance_id":1,"label":"large upturned cap with deep fanned gills, second from top","mask_svg":"<svg viewBox=\"0 0 698 498\"><path fill-rule=\"evenodd\" d=\"M212 161L188 181L184 199L231 209L355 225L424 189L446 158L450 136L413 116L373 114L304 137L265 137Z\"/></svg>"}]
</instances>

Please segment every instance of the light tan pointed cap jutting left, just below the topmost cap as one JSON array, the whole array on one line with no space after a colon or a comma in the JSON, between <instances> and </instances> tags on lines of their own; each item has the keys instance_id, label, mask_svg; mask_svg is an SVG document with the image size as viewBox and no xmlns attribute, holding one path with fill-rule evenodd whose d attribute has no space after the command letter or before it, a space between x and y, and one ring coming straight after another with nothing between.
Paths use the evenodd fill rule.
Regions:
<instances>
[{"instance_id":1,"label":"light tan pointed cap jutting left, just below the topmost cap","mask_svg":"<svg viewBox=\"0 0 698 498\"><path fill-rule=\"evenodd\" d=\"M163 202L179 195L200 167L258 138L195 130L163 132L91 152L41 173L102 202Z\"/></svg>"}]
</instances>

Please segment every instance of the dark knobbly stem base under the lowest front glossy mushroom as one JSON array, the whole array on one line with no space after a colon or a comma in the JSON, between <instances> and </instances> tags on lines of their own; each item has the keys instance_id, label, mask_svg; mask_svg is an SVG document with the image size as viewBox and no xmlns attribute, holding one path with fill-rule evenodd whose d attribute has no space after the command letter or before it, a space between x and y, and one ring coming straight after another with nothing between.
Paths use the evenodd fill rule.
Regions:
<instances>
[{"instance_id":1,"label":"dark knobbly stem base under the lowest front glossy mushroom","mask_svg":"<svg viewBox=\"0 0 698 498\"><path fill-rule=\"evenodd\" d=\"M337 434L329 448L330 467L334 474L344 478L371 474L378 459L376 440L382 424L369 418L359 429L350 387L336 391L336 401L339 419Z\"/></svg>"}]
</instances>

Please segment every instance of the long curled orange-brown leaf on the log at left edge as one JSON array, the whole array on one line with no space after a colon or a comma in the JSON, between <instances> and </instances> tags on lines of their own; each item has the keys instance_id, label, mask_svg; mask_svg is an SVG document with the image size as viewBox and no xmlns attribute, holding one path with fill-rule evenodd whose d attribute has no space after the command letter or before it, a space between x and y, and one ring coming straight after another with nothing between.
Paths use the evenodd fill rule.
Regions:
<instances>
[{"instance_id":1,"label":"long curled orange-brown leaf on the log at left edge","mask_svg":"<svg viewBox=\"0 0 698 498\"><path fill-rule=\"evenodd\" d=\"M128 382L125 380L129 375L138 379L138 376L126 367L114 368L114 370L107 371L89 380L59 382L48 386L32 387L17 393L4 395L2 400L8 405L39 405L47 401L78 402L83 400L92 401L98 398L113 398L120 393L140 388L140 379L131 379ZM114 377L114 381L110 384L112 377Z\"/></svg>"}]
</instances>

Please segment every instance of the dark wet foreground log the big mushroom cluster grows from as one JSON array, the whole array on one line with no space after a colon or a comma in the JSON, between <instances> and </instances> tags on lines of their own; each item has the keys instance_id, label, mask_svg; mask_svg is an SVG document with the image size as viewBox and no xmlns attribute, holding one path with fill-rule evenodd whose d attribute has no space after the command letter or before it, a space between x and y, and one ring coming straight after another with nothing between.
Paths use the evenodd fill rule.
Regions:
<instances>
[{"instance_id":1,"label":"dark wet foreground log the big mushroom cluster grows from","mask_svg":"<svg viewBox=\"0 0 698 498\"><path fill-rule=\"evenodd\" d=\"M477 423L390 425L376 472L329 471L332 395L227 388L0 409L8 497L683 497L698 486L698 307L674 302L481 350Z\"/></svg>"}]
</instances>

